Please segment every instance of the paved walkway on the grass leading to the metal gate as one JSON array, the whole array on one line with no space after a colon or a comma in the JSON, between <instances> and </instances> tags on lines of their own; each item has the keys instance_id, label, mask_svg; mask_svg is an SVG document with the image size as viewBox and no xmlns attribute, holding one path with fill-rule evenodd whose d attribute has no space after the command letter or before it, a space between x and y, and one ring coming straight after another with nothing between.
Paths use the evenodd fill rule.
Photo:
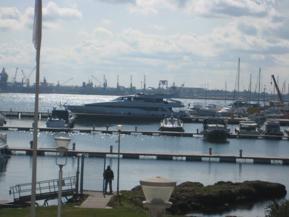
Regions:
<instances>
[{"instance_id":1,"label":"paved walkway on the grass leading to the metal gate","mask_svg":"<svg viewBox=\"0 0 289 217\"><path fill-rule=\"evenodd\" d=\"M81 208L100 208L100 209L111 209L106 206L110 201L110 198L114 194L104 194L102 191L83 191L84 194L89 194L89 197L79 206ZM115 193L115 192L114 192Z\"/></svg>"}]
</instances>

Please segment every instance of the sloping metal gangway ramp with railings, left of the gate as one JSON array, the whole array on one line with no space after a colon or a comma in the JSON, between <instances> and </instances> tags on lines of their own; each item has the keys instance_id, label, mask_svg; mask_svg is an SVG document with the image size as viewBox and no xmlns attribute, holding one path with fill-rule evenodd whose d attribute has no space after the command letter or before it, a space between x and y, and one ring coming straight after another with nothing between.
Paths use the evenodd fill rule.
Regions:
<instances>
[{"instance_id":1,"label":"sloping metal gangway ramp with railings, left of the gate","mask_svg":"<svg viewBox=\"0 0 289 217\"><path fill-rule=\"evenodd\" d=\"M62 197L73 196L76 192L76 177L62 179ZM31 201L31 183L17 184L10 187L9 194L13 195L14 203L21 204ZM48 200L58 198L58 179L36 182L36 201L45 200L43 205L48 205Z\"/></svg>"}]
</instances>

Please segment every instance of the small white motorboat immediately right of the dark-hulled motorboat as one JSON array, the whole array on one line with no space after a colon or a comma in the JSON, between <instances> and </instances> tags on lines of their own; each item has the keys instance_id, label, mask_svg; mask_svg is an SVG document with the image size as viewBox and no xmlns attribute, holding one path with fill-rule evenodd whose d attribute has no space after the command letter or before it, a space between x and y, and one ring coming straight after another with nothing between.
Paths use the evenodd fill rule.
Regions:
<instances>
[{"instance_id":1,"label":"small white motorboat immediately right of the dark-hulled motorboat","mask_svg":"<svg viewBox=\"0 0 289 217\"><path fill-rule=\"evenodd\" d=\"M255 121L240 121L239 125L235 128L235 133L239 136L249 138L258 138L260 132L258 131L258 124Z\"/></svg>"}]
</instances>

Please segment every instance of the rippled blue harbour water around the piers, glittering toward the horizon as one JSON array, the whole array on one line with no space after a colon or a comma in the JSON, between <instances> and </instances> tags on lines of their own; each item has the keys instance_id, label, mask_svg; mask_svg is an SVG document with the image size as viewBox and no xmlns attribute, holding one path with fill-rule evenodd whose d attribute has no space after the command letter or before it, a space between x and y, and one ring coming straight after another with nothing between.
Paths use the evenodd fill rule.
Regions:
<instances>
[{"instance_id":1,"label":"rippled blue harbour water around the piers, glittering toward the horizon","mask_svg":"<svg viewBox=\"0 0 289 217\"><path fill-rule=\"evenodd\" d=\"M47 112L53 106L64 104L81 105L116 98L116 96L94 96L94 95L66 95L66 94L40 94L39 112ZM0 93L1 111L34 111L34 95L20 93ZM196 100L181 100L185 105ZM205 102L205 100L199 100ZM225 105L224 101L207 100L208 103ZM227 102L226 104L228 104ZM32 118L6 118L6 126L32 127ZM45 121L39 121L39 127L45 127ZM75 128L106 129L116 130L118 124L123 125L123 130L157 131L158 122L135 121L81 121L77 120ZM234 131L236 125L230 125ZM201 130L201 123L184 123L186 132ZM281 127L284 131L285 127ZM1 131L7 133L8 145L10 147L30 147L29 142L33 140L33 132ZM84 150L117 150L117 134L85 134L85 133L46 133L38 134L38 147L55 148L54 138L58 136L71 138L69 149L72 143L76 143L76 149ZM234 154L238 155L243 150L243 155L259 156L289 156L288 140L265 140L265 139L228 139L225 143L212 143L203 140L202 137L170 137L170 136L143 136L143 135L121 135L120 149L122 151L143 151L162 153L209 153L212 147L213 154ZM116 176L117 156L107 156L107 165L111 165ZM67 165L63 168L63 177L73 174L77 166L77 158L68 157ZM153 176L162 176L174 179L177 184L185 181L200 182L204 185L214 184L217 181L243 182L245 180L262 180L284 184L289 189L288 165L280 165L280 162L272 164L253 164L250 160L238 160L237 163L224 163L216 159L206 159L202 162L186 162L184 159L156 160L155 157L141 157L141 159L120 159L120 190L130 190L139 184L139 179ZM25 153L12 155L7 162L0 162L0 200L13 200L9 195L9 188L16 184L31 182L32 157ZM37 181L44 181L58 178L58 166L55 165L55 154L37 157ZM115 179L116 180L116 179ZM116 181L113 181L113 190L116 190ZM289 199L289 196L285 196ZM270 201L265 200L254 205L238 207L222 207L213 209L206 213L195 212L189 215L198 216L265 216L266 205Z\"/></svg>"}]
</instances>

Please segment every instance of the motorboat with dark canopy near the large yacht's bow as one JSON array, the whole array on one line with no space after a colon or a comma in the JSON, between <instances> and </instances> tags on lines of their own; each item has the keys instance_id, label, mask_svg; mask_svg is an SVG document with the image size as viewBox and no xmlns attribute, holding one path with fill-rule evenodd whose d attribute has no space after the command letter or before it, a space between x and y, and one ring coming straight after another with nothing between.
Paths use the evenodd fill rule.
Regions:
<instances>
[{"instance_id":1,"label":"motorboat with dark canopy near the large yacht's bow","mask_svg":"<svg viewBox=\"0 0 289 217\"><path fill-rule=\"evenodd\" d=\"M48 115L46 127L51 128L73 128L76 123L76 115L72 114L67 108L57 110L53 107L51 115Z\"/></svg>"}]
</instances>

